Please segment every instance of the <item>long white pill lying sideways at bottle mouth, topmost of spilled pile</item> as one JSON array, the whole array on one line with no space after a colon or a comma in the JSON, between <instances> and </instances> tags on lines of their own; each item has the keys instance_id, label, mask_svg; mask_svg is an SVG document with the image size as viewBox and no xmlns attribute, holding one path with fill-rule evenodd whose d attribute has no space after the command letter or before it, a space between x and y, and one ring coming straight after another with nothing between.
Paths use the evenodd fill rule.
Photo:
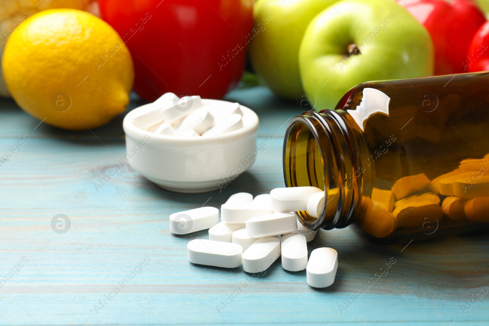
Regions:
<instances>
[{"instance_id":1,"label":"long white pill lying sideways at bottle mouth, topmost of spilled pile","mask_svg":"<svg viewBox=\"0 0 489 326\"><path fill-rule=\"evenodd\" d=\"M282 213L306 211L309 197L319 192L316 187L275 188L270 192L271 208Z\"/></svg>"}]
</instances>

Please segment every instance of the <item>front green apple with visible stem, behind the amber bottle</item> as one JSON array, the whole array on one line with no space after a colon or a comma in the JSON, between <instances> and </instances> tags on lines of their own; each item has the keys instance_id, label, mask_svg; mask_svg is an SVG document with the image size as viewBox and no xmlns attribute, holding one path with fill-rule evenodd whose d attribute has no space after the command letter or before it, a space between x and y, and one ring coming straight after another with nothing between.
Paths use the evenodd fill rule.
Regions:
<instances>
[{"instance_id":1,"label":"front green apple with visible stem, behind the amber bottle","mask_svg":"<svg viewBox=\"0 0 489 326\"><path fill-rule=\"evenodd\" d=\"M396 2L342 0L304 34L302 85L314 109L334 109L360 83L432 75L433 53L426 29Z\"/></svg>"}]
</instances>

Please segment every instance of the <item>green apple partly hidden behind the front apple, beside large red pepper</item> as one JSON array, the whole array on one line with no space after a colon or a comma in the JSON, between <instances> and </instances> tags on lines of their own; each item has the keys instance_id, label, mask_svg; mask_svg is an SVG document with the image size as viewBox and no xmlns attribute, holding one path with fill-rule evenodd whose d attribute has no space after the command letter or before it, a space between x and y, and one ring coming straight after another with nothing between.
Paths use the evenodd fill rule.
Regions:
<instances>
[{"instance_id":1,"label":"green apple partly hidden behind the front apple, beside large red pepper","mask_svg":"<svg viewBox=\"0 0 489 326\"><path fill-rule=\"evenodd\" d=\"M311 20L336 0L258 0L249 44L253 68L277 95L298 99L299 46ZM248 38L246 38L248 41Z\"/></svg>"}]
</instances>

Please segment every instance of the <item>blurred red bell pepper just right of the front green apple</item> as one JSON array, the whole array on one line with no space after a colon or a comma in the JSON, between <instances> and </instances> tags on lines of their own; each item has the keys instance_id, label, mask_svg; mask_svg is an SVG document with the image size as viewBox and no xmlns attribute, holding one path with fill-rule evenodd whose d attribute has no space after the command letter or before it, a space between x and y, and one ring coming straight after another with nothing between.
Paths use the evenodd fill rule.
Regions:
<instances>
[{"instance_id":1,"label":"blurred red bell pepper just right of the front green apple","mask_svg":"<svg viewBox=\"0 0 489 326\"><path fill-rule=\"evenodd\" d=\"M397 0L428 30L435 46L435 75L464 72L467 49L486 21L472 0Z\"/></svg>"}]
</instances>

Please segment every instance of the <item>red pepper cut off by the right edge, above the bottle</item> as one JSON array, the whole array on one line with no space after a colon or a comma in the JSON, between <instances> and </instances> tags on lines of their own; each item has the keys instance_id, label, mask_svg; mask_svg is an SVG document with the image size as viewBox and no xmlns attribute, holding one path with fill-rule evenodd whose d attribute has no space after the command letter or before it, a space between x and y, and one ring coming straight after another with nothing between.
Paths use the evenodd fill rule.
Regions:
<instances>
[{"instance_id":1,"label":"red pepper cut off by the right edge, above the bottle","mask_svg":"<svg viewBox=\"0 0 489 326\"><path fill-rule=\"evenodd\" d=\"M467 72L489 70L489 22L475 33L467 53Z\"/></svg>"}]
</instances>

